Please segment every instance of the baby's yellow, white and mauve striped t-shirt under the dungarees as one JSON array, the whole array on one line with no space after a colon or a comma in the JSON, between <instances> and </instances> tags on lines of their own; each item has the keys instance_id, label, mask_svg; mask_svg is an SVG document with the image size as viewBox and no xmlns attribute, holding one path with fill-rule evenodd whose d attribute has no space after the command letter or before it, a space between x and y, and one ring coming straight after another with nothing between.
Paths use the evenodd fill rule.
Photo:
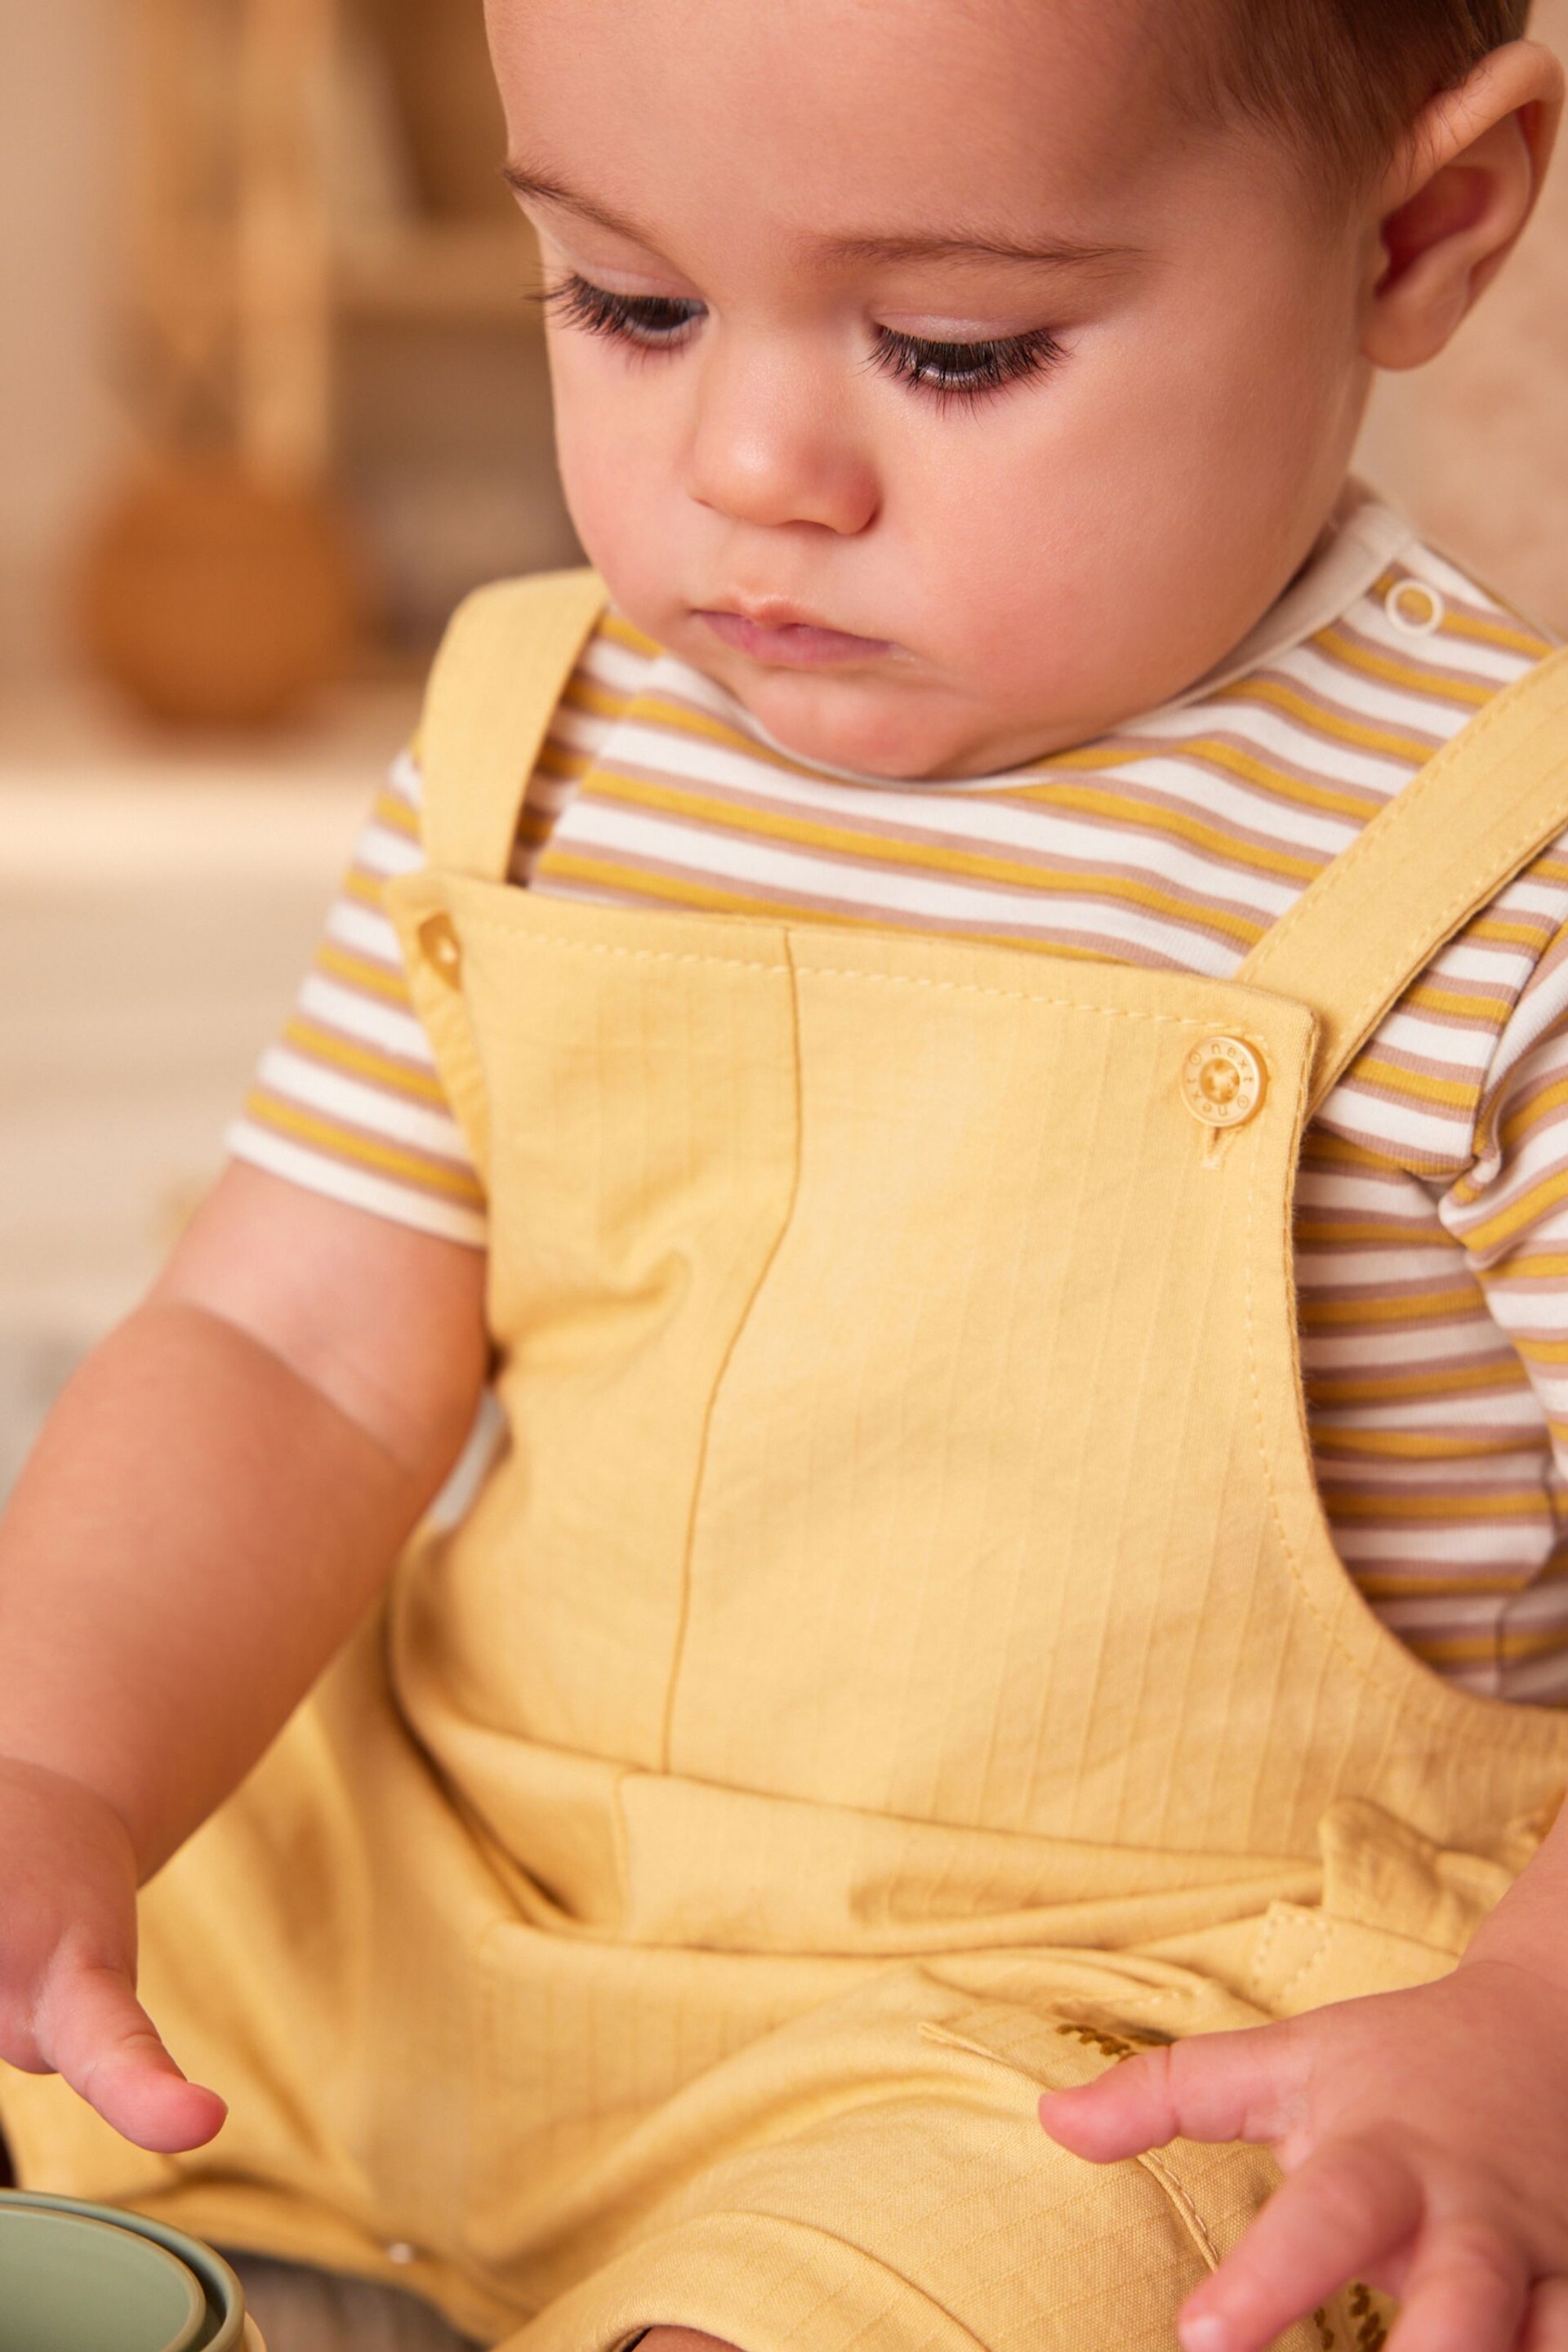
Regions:
<instances>
[{"instance_id":1,"label":"baby's yellow, white and mauve striped t-shirt under the dungarees","mask_svg":"<svg viewBox=\"0 0 1568 2352\"><path fill-rule=\"evenodd\" d=\"M611 614L529 781L512 880L1229 978L1547 652L1363 501L1178 703L1006 776L882 783L785 755ZM381 903L421 856L402 757L230 1148L484 1247ZM1316 1477L1349 1573L1439 1675L1568 1703L1568 840L1434 957L1324 1105L1295 1247Z\"/></svg>"}]
</instances>

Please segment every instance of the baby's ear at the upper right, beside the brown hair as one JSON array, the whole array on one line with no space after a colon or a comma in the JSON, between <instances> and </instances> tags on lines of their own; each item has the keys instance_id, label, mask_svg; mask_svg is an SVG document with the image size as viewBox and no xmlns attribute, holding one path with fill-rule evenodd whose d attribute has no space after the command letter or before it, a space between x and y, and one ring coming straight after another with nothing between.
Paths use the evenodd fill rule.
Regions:
<instances>
[{"instance_id":1,"label":"baby's ear at the upper right, beside the brown hair","mask_svg":"<svg viewBox=\"0 0 1568 2352\"><path fill-rule=\"evenodd\" d=\"M1507 261L1535 209L1563 113L1563 68L1535 40L1493 49L1422 108L1368 221L1361 350L1422 367Z\"/></svg>"}]
</instances>

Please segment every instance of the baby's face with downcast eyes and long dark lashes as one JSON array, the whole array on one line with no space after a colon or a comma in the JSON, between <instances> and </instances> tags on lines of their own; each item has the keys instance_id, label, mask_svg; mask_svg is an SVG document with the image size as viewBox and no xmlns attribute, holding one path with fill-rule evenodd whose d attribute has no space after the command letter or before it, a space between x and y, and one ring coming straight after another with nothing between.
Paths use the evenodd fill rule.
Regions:
<instances>
[{"instance_id":1,"label":"baby's face with downcast eyes and long dark lashes","mask_svg":"<svg viewBox=\"0 0 1568 2352\"><path fill-rule=\"evenodd\" d=\"M1321 532L1366 226L1194 129L1166 7L491 0L583 546L806 760L1103 734Z\"/></svg>"}]
</instances>

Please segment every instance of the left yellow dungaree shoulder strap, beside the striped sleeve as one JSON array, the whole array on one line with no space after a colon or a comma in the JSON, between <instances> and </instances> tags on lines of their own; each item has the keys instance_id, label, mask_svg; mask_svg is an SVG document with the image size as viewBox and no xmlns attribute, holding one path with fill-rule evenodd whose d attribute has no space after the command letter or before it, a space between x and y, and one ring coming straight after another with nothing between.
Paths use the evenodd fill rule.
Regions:
<instances>
[{"instance_id":1,"label":"left yellow dungaree shoulder strap, beside the striped sleeve","mask_svg":"<svg viewBox=\"0 0 1568 2352\"><path fill-rule=\"evenodd\" d=\"M418 729L430 866L503 882L529 776L604 612L595 572L498 581L458 607Z\"/></svg>"}]
</instances>

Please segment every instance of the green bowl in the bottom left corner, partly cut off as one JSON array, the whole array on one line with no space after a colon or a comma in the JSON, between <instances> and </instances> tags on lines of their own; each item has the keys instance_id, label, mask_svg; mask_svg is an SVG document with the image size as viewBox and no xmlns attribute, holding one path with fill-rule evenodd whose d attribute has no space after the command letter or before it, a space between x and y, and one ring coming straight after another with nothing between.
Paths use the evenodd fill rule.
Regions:
<instances>
[{"instance_id":1,"label":"green bowl in the bottom left corner, partly cut off","mask_svg":"<svg viewBox=\"0 0 1568 2352\"><path fill-rule=\"evenodd\" d=\"M256 2352L228 2263L181 2230L0 2190L0 2352Z\"/></svg>"}]
</instances>

